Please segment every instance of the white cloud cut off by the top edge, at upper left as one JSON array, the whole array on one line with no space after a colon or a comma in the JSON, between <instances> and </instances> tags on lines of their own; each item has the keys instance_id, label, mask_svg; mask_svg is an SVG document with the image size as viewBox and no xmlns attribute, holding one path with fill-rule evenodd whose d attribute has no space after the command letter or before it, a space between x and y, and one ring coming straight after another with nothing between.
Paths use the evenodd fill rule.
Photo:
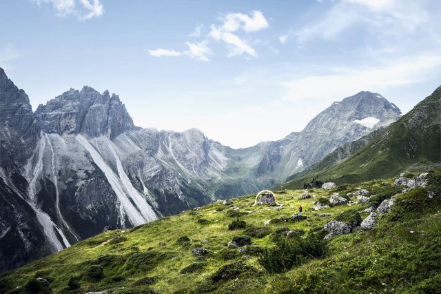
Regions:
<instances>
[{"instance_id":1,"label":"white cloud cut off by the top edge, at upper left","mask_svg":"<svg viewBox=\"0 0 441 294\"><path fill-rule=\"evenodd\" d=\"M43 3L52 4L57 17L68 17L70 15L82 21L101 17L104 13L103 4L99 0L79 0L80 6L76 6L76 0L34 0L37 5Z\"/></svg>"}]
</instances>

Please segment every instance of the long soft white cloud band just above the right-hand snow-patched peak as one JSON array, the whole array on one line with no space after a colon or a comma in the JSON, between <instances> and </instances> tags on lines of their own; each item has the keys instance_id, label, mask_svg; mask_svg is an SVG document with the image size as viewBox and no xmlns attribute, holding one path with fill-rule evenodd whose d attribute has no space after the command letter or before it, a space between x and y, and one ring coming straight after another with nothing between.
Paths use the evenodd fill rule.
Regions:
<instances>
[{"instance_id":1,"label":"long soft white cloud band just above the right-hand snow-patched peak","mask_svg":"<svg viewBox=\"0 0 441 294\"><path fill-rule=\"evenodd\" d=\"M376 68L334 68L322 75L308 75L281 83L285 100L327 99L334 101L360 90L382 92L393 87L426 81L441 69L441 55L427 54L389 61Z\"/></svg>"}]
</instances>

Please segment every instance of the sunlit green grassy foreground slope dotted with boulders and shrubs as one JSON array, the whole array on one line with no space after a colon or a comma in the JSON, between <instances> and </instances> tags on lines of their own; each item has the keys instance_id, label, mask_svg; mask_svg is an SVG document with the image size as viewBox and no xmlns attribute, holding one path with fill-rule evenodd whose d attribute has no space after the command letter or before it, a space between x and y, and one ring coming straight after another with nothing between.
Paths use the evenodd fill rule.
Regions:
<instances>
[{"instance_id":1,"label":"sunlit green grassy foreground slope dotted with boulders and shrubs","mask_svg":"<svg viewBox=\"0 0 441 294\"><path fill-rule=\"evenodd\" d=\"M389 185L384 186L384 180ZM48 279L54 293L415 293L439 289L440 171L430 173L427 188L398 194L392 212L379 217L372 231L361 233L355 228L349 235L320 241L323 225L341 219L340 213L358 211L365 218L367 213L362 210L367 206L399 193L401 188L392 182L389 178L334 190L289 190L276 194L283 204L276 209L253 206L254 195L248 195L233 199L231 206L217 202L129 230L102 233L3 273L0 292L48 293L35 283L36 277ZM312 207L320 197L336 192L346 195L358 186L376 195L371 203L320 212ZM429 191L435 197L427 197ZM305 192L316 197L298 199ZM308 219L288 219L299 204ZM320 217L320 213L331 216ZM263 226L268 219L276 220ZM229 230L233 223L237 228ZM293 231L294 237L284 237L282 228ZM228 248L227 242L235 236L249 236L257 246L249 246L252 249L245 253ZM194 248L205 248L207 254L196 256ZM296 257L296 264L286 269L276 266L274 272L259 262L263 256L279 252L287 259Z\"/></svg>"}]
</instances>

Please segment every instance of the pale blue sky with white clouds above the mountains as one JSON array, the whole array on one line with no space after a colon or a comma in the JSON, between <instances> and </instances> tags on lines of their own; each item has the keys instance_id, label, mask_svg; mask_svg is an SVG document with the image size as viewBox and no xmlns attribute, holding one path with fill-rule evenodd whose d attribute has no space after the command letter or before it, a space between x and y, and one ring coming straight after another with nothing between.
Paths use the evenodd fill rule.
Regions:
<instances>
[{"instance_id":1,"label":"pale blue sky with white clouds above the mountains","mask_svg":"<svg viewBox=\"0 0 441 294\"><path fill-rule=\"evenodd\" d=\"M32 108L88 85L136 126L232 148L369 90L403 113L441 85L441 1L0 1L0 67Z\"/></svg>"}]
</instances>

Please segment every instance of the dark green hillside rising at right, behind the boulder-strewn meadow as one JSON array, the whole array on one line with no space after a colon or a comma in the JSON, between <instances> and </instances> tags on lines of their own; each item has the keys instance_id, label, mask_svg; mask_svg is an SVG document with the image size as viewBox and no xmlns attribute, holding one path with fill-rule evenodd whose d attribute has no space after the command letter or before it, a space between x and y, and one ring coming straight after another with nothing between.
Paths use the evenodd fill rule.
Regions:
<instances>
[{"instance_id":1,"label":"dark green hillside rising at right, behind the boulder-strewn meadow","mask_svg":"<svg viewBox=\"0 0 441 294\"><path fill-rule=\"evenodd\" d=\"M322 182L354 183L441 164L441 87L388 128L338 148L316 166L293 175L285 188L299 188L314 177ZM348 153L351 157L339 162Z\"/></svg>"}]
</instances>

